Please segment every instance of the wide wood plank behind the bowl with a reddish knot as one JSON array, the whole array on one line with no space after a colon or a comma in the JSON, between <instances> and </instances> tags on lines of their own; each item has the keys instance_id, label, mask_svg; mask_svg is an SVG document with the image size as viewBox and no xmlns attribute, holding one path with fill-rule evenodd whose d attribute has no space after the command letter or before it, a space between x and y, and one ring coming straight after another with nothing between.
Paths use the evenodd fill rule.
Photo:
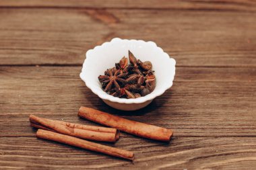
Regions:
<instances>
[{"instance_id":1,"label":"wide wood plank behind the bowl with a reddish knot","mask_svg":"<svg viewBox=\"0 0 256 170\"><path fill-rule=\"evenodd\" d=\"M255 67L255 17L234 11L3 8L0 65L82 65L88 49L121 37L156 42L178 66Z\"/></svg>"}]
</instances>

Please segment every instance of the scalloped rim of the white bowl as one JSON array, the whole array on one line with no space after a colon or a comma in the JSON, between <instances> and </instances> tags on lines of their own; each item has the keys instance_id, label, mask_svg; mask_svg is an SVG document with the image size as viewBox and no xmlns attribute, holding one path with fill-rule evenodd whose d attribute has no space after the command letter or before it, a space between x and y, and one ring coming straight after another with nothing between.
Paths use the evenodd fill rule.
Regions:
<instances>
[{"instance_id":1,"label":"scalloped rim of the white bowl","mask_svg":"<svg viewBox=\"0 0 256 170\"><path fill-rule=\"evenodd\" d=\"M168 59L170 59L170 65L171 67L174 67L174 72L173 74L168 77L170 78L170 81L168 81L168 83L165 83L165 85L162 87L162 89L156 93L154 93L154 91L146 96L143 97L138 97L136 99L124 99L124 98L119 98L119 97L113 97L112 95L109 95L108 93L103 92L102 91L98 91L97 89L94 89L94 84L90 83L90 81L86 81L86 65L88 65L88 58L90 58L90 52L97 50L98 48L103 48L104 46L108 46L108 44L111 44L113 42L118 42L118 41L129 41L129 42L143 42L143 43L148 43L148 44L153 44L155 46L155 48L158 48L158 50L160 50L164 56L168 56ZM86 52L86 59L84 60L84 64L82 67L82 72L79 74L80 78L84 81L84 83L86 83L86 86L92 90L92 92L96 95L98 95L98 97L100 97L101 99L105 99L108 101L113 101L113 102L117 102L117 103L144 103L146 101L152 100L160 95L162 95L167 89L169 89L170 87L172 87L172 82L174 79L174 75L175 75L175 65L176 65L176 61L173 58L170 58L170 56L164 52L164 50L162 50L162 48L160 48L159 46L156 45L155 42L152 41L148 41L145 42L143 40L127 40L127 39L121 39L121 38L113 38L110 42L104 42L102 45L100 46L95 46L93 49L90 49Z\"/></svg>"}]
</instances>

